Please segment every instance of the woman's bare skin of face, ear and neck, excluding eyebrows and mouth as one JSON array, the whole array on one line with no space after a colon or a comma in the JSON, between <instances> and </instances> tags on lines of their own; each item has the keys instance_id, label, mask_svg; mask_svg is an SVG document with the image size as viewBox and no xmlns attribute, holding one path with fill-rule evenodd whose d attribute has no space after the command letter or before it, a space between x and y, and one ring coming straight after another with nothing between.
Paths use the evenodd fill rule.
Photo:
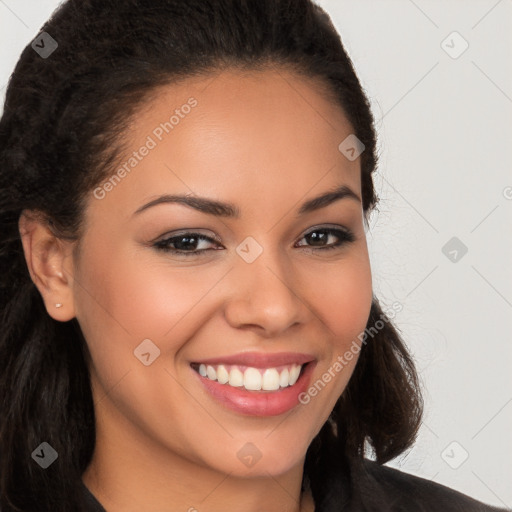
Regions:
<instances>
[{"instance_id":1,"label":"woman's bare skin of face, ear and neck, excluding eyebrows and mouth","mask_svg":"<svg viewBox=\"0 0 512 512\"><path fill-rule=\"evenodd\" d=\"M309 512L305 454L357 355L307 405L270 417L227 409L190 363L305 352L317 361L314 383L364 331L372 275L361 202L297 215L340 185L361 198L360 159L338 149L353 129L313 80L284 68L223 70L156 91L124 134L121 160L190 97L197 105L121 182L103 199L91 192L79 254L32 212L20 217L48 314L76 317L91 353L97 443L83 481L108 512ZM229 202L241 215L171 203L134 214L165 193ZM325 250L337 235L305 236L326 225L355 241ZM186 246L208 249L193 256L152 246L184 230L216 240ZM247 237L263 249L252 263L236 251ZM160 350L148 366L134 355L145 339ZM246 443L261 454L252 467L237 456Z\"/></svg>"}]
</instances>

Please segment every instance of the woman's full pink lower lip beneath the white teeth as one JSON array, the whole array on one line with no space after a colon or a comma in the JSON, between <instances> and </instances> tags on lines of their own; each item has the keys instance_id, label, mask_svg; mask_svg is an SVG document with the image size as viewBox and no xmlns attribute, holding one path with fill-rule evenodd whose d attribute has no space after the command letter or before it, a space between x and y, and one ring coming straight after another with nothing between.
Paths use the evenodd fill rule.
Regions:
<instances>
[{"instance_id":1,"label":"woman's full pink lower lip beneath the white teeth","mask_svg":"<svg viewBox=\"0 0 512 512\"><path fill-rule=\"evenodd\" d=\"M307 389L315 366L316 361L311 361L303 368L293 386L277 391L249 391L243 387L235 388L203 377L194 369L192 371L210 395L228 409L249 416L277 416L293 409L299 403L299 395Z\"/></svg>"}]
</instances>

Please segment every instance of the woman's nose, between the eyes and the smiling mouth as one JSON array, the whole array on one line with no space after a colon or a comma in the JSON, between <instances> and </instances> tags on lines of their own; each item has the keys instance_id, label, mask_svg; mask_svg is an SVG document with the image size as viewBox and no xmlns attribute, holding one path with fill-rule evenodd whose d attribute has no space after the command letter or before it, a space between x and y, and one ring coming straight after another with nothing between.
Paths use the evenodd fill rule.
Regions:
<instances>
[{"instance_id":1,"label":"woman's nose, between the eyes and the smiling mouth","mask_svg":"<svg viewBox=\"0 0 512 512\"><path fill-rule=\"evenodd\" d=\"M277 251L265 249L252 263L236 258L228 279L225 316L232 327L274 337L305 321L300 280Z\"/></svg>"}]
</instances>

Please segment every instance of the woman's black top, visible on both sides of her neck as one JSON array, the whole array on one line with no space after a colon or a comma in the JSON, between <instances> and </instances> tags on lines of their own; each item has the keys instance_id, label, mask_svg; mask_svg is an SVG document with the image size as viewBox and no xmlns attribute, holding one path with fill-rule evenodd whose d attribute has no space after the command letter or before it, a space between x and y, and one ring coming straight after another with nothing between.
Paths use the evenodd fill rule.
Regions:
<instances>
[{"instance_id":1,"label":"woman's black top, visible on both sides of her neck","mask_svg":"<svg viewBox=\"0 0 512 512\"><path fill-rule=\"evenodd\" d=\"M389 466L382 466L370 460L365 460L364 472L358 474L358 478L365 480L360 486L364 489L361 491L360 498L352 500L348 505L343 505L339 495L334 491L324 497L323 503L316 505L315 512L505 512L512 510L486 505L442 484ZM85 484L84 493L89 505L88 512L106 512ZM361 501L364 505L361 505ZM385 503L384 508L382 503Z\"/></svg>"}]
</instances>

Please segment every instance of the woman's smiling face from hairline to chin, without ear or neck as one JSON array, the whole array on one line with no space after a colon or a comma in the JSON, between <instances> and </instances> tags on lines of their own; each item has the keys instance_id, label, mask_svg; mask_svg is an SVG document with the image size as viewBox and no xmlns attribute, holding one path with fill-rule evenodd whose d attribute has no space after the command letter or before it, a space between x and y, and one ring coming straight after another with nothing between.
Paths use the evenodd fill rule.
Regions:
<instances>
[{"instance_id":1,"label":"woman's smiling face from hairline to chin, without ear or neck","mask_svg":"<svg viewBox=\"0 0 512 512\"><path fill-rule=\"evenodd\" d=\"M352 133L285 70L148 100L91 194L73 267L98 435L233 475L303 462L372 300L360 160L338 148ZM342 186L355 196L311 202ZM230 207L148 206L164 195Z\"/></svg>"}]
</instances>

